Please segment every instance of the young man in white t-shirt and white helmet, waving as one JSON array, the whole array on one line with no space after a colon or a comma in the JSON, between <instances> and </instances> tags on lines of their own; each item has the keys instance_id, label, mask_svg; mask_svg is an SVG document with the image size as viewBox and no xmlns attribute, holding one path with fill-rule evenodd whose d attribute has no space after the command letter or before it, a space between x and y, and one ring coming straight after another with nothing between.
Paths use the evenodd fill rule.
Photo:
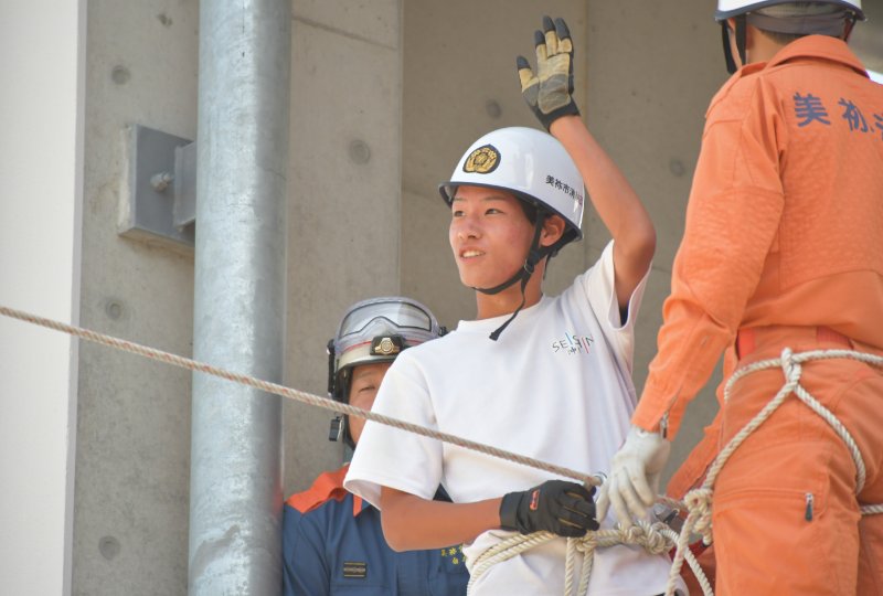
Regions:
<instances>
[{"instance_id":1,"label":"young man in white t-shirt and white helmet, waving","mask_svg":"<svg viewBox=\"0 0 883 596\"><path fill-rule=\"evenodd\" d=\"M539 77L519 57L522 93L552 136L494 130L440 187L460 280L476 289L476 320L400 355L373 409L594 473L608 469L635 409L635 318L656 233L579 118L563 21L544 19L536 55ZM547 259L582 237L583 180L613 242L552 298L542 290ZM432 500L439 483L453 503ZM469 565L517 532L582 536L598 528L594 489L371 422L344 486L381 509L393 549L465 543ZM471 594L563 594L565 549L561 538L498 563ZM664 590L667 556L613 546L594 557L589 594Z\"/></svg>"}]
</instances>

